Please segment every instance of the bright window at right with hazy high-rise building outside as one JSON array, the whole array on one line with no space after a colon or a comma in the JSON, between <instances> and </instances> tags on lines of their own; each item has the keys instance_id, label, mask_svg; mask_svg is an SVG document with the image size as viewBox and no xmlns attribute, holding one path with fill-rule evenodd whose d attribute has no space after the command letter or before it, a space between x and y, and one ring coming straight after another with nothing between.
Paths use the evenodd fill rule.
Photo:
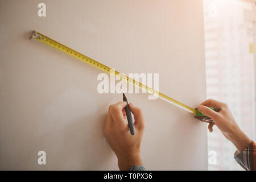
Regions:
<instances>
[{"instance_id":1,"label":"bright window at right with hazy high-rise building outside","mask_svg":"<svg viewBox=\"0 0 256 182\"><path fill-rule=\"evenodd\" d=\"M255 20L253 0L204 0L207 97L226 102L238 125L254 140ZM214 126L208 133L209 170L243 170L233 158L235 151Z\"/></svg>"}]
</instances>

